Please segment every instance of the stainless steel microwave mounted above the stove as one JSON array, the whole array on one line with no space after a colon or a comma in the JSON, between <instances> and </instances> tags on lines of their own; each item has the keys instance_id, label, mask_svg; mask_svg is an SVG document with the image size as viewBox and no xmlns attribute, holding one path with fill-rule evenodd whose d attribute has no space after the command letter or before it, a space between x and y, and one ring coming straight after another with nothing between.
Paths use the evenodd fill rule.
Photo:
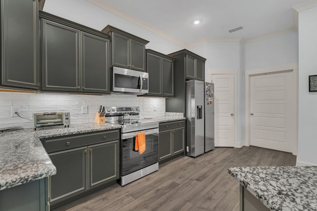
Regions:
<instances>
[{"instance_id":1,"label":"stainless steel microwave mounted above the stove","mask_svg":"<svg viewBox=\"0 0 317 211\"><path fill-rule=\"evenodd\" d=\"M111 91L132 94L149 93L149 73L113 66Z\"/></svg>"}]
</instances>

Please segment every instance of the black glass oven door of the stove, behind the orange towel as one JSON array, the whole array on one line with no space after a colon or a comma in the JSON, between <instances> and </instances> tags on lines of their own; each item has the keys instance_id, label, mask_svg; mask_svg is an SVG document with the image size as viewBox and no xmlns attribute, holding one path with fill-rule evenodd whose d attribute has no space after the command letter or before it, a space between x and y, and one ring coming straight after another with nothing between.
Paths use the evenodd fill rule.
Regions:
<instances>
[{"instance_id":1,"label":"black glass oven door of the stove, behind the orange towel","mask_svg":"<svg viewBox=\"0 0 317 211\"><path fill-rule=\"evenodd\" d=\"M133 151L138 132L145 132L146 150L141 155ZM121 176L159 162L159 128L121 134Z\"/></svg>"}]
</instances>

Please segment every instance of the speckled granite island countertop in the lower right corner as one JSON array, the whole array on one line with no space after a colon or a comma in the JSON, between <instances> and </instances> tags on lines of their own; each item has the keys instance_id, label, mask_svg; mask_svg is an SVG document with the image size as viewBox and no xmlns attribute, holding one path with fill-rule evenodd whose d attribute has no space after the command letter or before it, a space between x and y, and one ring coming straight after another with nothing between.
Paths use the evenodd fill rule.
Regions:
<instances>
[{"instance_id":1,"label":"speckled granite island countertop in the lower right corner","mask_svg":"<svg viewBox=\"0 0 317 211\"><path fill-rule=\"evenodd\" d=\"M228 171L271 211L317 210L317 166L241 167Z\"/></svg>"}]
</instances>

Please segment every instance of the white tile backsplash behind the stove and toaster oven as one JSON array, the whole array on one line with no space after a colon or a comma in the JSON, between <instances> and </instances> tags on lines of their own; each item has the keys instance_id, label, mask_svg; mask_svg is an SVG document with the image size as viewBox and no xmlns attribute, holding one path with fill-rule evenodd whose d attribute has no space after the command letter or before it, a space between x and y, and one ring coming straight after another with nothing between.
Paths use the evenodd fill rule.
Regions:
<instances>
[{"instance_id":1,"label":"white tile backsplash behind the stove and toaster oven","mask_svg":"<svg viewBox=\"0 0 317 211\"><path fill-rule=\"evenodd\" d=\"M136 95L83 95L48 94L0 91L0 128L33 127L33 113L70 112L71 124L93 123L100 105L140 106L141 118L159 117L165 114L165 98L137 97ZM11 106L21 106L21 116L11 117ZM82 106L88 106L87 114L82 114Z\"/></svg>"}]
</instances>

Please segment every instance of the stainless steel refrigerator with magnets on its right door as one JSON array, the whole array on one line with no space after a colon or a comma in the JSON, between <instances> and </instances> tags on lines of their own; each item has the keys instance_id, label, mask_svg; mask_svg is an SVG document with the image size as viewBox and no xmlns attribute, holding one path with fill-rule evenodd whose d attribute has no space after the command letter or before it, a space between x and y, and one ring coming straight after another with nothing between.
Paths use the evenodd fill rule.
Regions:
<instances>
[{"instance_id":1,"label":"stainless steel refrigerator with magnets on its right door","mask_svg":"<svg viewBox=\"0 0 317 211\"><path fill-rule=\"evenodd\" d=\"M186 155L197 157L214 148L213 84L186 82Z\"/></svg>"}]
</instances>

